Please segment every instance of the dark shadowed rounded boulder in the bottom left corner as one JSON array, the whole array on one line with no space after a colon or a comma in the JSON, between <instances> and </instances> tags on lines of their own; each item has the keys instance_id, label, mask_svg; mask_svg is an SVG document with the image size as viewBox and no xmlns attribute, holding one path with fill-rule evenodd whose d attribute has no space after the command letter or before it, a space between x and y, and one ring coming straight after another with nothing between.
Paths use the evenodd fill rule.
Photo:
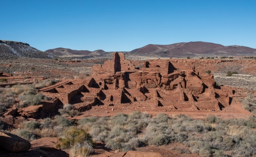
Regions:
<instances>
[{"instance_id":1,"label":"dark shadowed rounded boulder in the bottom left corner","mask_svg":"<svg viewBox=\"0 0 256 157\"><path fill-rule=\"evenodd\" d=\"M0 131L0 146L11 152L21 152L29 150L31 144L26 139L23 139L17 135L8 133L6 131Z\"/></svg>"}]
</instances>

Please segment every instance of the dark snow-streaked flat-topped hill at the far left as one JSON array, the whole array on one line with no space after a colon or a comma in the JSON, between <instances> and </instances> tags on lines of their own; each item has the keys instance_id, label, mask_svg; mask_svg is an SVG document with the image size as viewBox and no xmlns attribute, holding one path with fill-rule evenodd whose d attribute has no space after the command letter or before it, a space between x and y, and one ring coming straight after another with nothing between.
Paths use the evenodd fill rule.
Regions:
<instances>
[{"instance_id":1,"label":"dark snow-streaked flat-topped hill at the far left","mask_svg":"<svg viewBox=\"0 0 256 157\"><path fill-rule=\"evenodd\" d=\"M11 59L18 57L52 58L52 55L31 47L27 43L0 40L0 58Z\"/></svg>"}]
</instances>

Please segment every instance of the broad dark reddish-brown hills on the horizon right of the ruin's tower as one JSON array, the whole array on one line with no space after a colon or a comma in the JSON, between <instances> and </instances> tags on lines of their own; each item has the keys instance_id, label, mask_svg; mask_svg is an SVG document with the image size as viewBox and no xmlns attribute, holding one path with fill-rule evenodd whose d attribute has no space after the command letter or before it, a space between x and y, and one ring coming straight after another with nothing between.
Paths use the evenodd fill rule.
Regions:
<instances>
[{"instance_id":1,"label":"broad dark reddish-brown hills on the horizon right of the ruin's tower","mask_svg":"<svg viewBox=\"0 0 256 157\"><path fill-rule=\"evenodd\" d=\"M198 55L256 55L256 49L245 46L223 46L210 42L181 42L170 45L149 44L129 52L152 57L184 57Z\"/></svg>"}]
</instances>

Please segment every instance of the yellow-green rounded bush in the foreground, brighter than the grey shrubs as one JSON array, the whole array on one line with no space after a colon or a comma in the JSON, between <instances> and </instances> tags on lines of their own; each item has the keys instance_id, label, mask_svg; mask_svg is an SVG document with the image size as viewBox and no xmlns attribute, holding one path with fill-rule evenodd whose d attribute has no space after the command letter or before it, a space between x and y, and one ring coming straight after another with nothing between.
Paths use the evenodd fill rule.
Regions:
<instances>
[{"instance_id":1,"label":"yellow-green rounded bush in the foreground, brighter than the grey shrubs","mask_svg":"<svg viewBox=\"0 0 256 157\"><path fill-rule=\"evenodd\" d=\"M63 131L63 138L59 138L60 144L57 147L61 149L69 148L75 143L83 143L88 141L92 143L91 136L83 129L78 129L75 126L69 127Z\"/></svg>"}]
</instances>

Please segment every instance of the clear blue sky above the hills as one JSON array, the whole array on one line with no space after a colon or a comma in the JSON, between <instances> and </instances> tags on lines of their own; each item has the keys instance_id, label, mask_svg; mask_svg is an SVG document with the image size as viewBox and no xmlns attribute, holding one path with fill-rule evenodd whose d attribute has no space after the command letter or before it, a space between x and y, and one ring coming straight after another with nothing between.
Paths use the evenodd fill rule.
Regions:
<instances>
[{"instance_id":1,"label":"clear blue sky above the hills","mask_svg":"<svg viewBox=\"0 0 256 157\"><path fill-rule=\"evenodd\" d=\"M0 40L45 51L204 41L256 48L255 0L0 0Z\"/></svg>"}]
</instances>

